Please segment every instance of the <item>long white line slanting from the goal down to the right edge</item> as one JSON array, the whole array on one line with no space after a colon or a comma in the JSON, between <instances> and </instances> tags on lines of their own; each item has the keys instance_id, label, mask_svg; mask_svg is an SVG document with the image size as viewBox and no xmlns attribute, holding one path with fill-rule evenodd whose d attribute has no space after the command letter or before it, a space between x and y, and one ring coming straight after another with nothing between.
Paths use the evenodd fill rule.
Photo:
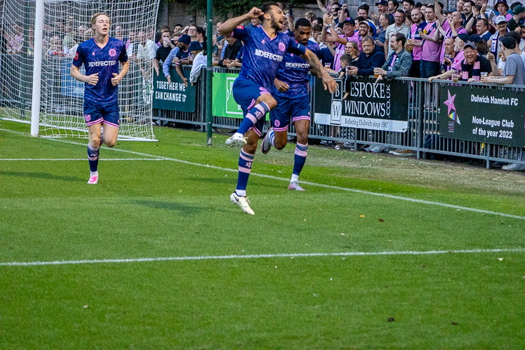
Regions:
<instances>
[{"instance_id":1,"label":"long white line slanting from the goal down to the right edge","mask_svg":"<svg viewBox=\"0 0 525 350\"><path fill-rule=\"evenodd\" d=\"M19 131L11 131L9 129L0 129L0 131L13 132L15 134L22 134L24 136L27 136L27 134L21 133ZM74 142L74 141L66 141L66 140L54 139L54 138L49 138L49 137L43 137L43 139L49 139L49 140L56 141L56 142L62 142L64 144L74 144L74 145L79 145L79 146L86 146L86 144L81 144L79 142ZM212 165L209 165L209 164L194 163L193 161L183 161L181 159L169 158L169 157L164 157L164 156L155 156L154 154L146 154L146 153L141 153L141 152L136 152L136 151L129 151L129 150L126 150L126 149L114 149L114 148L111 148L111 150L120 151L120 152L124 152L124 153L129 153L129 154L135 154L137 156L154 157L154 158L159 159L159 160L176 161L176 162L182 163L182 164L188 164L188 165L194 165L194 166L202 166L202 167L205 167L205 168L216 169L216 170L221 170L221 171L229 171L229 172L233 172L233 173L237 172L236 169L228 169L228 168L222 168L220 166L212 166ZM251 176L264 177L266 179L274 179L274 180L279 180L279 181L289 181L289 179L285 179L283 177L271 176L271 175L266 175L266 174L257 174L257 173L253 173L252 172L250 175ZM469 208L468 206L456 206L454 204L446 204L446 203L441 203L439 201L425 201L424 199L414 199L414 198L409 198L409 197L394 196L392 194L380 194L380 193L377 193L377 192L362 191L360 189L349 189L349 188L346 188L346 187L331 186L331 185L326 185L326 184L317 184L316 182L308 182L308 181L301 181L301 184L307 184L307 185L310 185L310 186L323 187L325 189L336 189L336 190L339 190L339 191L348 191L348 192L354 192L354 193L358 193L358 194L367 194L369 196L380 196L380 197L385 197L385 198L390 198L390 199L397 199L397 200L400 200L400 201L411 201L411 202L414 202L414 203L429 204L429 205L432 205L432 206L442 206L442 207L445 207L445 208L451 208L451 209L456 209L456 210L473 211L474 213L480 213L480 214L490 214L490 215L496 215L496 216L504 216L504 217L508 217L508 218L511 218L511 219L525 220L525 216L506 214L506 213L499 213L498 211L490 211L490 210L484 210L484 209Z\"/></svg>"}]
</instances>

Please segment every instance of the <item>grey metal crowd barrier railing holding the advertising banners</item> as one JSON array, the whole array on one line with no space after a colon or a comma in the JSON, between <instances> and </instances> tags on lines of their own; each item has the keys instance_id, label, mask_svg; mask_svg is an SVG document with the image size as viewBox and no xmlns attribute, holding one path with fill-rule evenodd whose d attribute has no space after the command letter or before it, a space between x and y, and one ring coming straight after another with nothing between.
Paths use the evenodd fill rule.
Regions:
<instances>
[{"instance_id":1,"label":"grey metal crowd barrier railing holding the advertising banners","mask_svg":"<svg viewBox=\"0 0 525 350\"><path fill-rule=\"evenodd\" d=\"M183 69L188 70L185 66ZM239 69L215 68L216 72L237 73ZM204 131L206 125L206 70L201 71L201 79L197 82L196 101L197 107L194 113L180 111L165 111L154 109L154 119L161 122L175 121L179 123L201 126ZM311 82L313 82L311 79ZM439 109L441 106L440 89L449 81L435 81L429 83L426 79L398 78L409 84L409 109L406 111L409 128L405 132L376 131L369 129L358 129L346 126L329 126L316 124L314 118L316 84L311 84L311 115L310 139L332 140L336 142L350 142L354 149L360 145L379 145L391 148L411 149L415 151L417 158L435 157L439 155L458 156L469 159L481 159L486 161L489 167L490 161L506 161L525 164L525 149L516 146L504 146L499 144L486 144L479 141L466 141L451 139L439 133ZM464 84L461 82L456 85ZM486 84L464 84L464 89L469 86L479 86L488 90L511 90L516 93L525 91L525 86L494 86ZM502 113L504 111L502 110ZM213 125L218 128L237 129L241 119L214 116ZM266 124L268 125L268 123ZM295 136L294 126L290 126L289 135Z\"/></svg>"}]
</instances>

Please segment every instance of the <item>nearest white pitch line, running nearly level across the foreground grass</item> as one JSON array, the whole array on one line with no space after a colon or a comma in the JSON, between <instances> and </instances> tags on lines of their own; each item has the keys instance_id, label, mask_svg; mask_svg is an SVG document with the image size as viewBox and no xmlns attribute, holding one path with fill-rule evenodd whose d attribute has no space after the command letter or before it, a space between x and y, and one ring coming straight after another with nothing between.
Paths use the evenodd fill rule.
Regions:
<instances>
[{"instance_id":1,"label":"nearest white pitch line, running nearly level across the foreground grass","mask_svg":"<svg viewBox=\"0 0 525 350\"><path fill-rule=\"evenodd\" d=\"M216 255L216 256L171 256L165 258L101 259L101 260L63 260L63 261L12 261L0 263L0 266L44 266L44 265L79 265L79 264L118 264L152 261L187 261L187 260L229 260L229 259L268 259L268 258L308 258L315 256L381 256L381 255L431 255L431 254L481 254L481 253L522 253L525 248L516 249L464 249L434 251L349 251L344 253L294 253L294 254L253 254L253 255Z\"/></svg>"}]
</instances>

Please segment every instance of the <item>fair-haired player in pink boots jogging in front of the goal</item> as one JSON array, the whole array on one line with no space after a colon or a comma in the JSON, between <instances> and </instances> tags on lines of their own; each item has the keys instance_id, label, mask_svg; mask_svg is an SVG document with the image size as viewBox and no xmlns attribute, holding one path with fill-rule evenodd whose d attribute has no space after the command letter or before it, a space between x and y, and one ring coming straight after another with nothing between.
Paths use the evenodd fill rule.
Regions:
<instances>
[{"instance_id":1,"label":"fair-haired player in pink boots jogging in front of the goal","mask_svg":"<svg viewBox=\"0 0 525 350\"><path fill-rule=\"evenodd\" d=\"M71 76L85 83L84 119L89 132L88 161L91 171L88 184L99 182L100 146L115 146L119 136L119 83L129 69L126 46L121 40L109 36L110 25L107 14L94 14L91 17L94 37L79 45L71 64ZM119 62L122 64L120 72ZM82 64L86 75L80 73Z\"/></svg>"}]
</instances>

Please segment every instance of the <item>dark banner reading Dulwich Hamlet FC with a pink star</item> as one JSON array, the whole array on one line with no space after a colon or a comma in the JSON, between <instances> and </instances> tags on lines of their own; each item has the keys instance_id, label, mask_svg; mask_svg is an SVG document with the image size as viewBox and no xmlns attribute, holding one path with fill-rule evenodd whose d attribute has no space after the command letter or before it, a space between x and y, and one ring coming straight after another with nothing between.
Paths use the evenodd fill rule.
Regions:
<instances>
[{"instance_id":1,"label":"dark banner reading Dulwich Hamlet FC with a pink star","mask_svg":"<svg viewBox=\"0 0 525 350\"><path fill-rule=\"evenodd\" d=\"M451 139L525 146L522 91L442 86L439 132Z\"/></svg>"}]
</instances>

